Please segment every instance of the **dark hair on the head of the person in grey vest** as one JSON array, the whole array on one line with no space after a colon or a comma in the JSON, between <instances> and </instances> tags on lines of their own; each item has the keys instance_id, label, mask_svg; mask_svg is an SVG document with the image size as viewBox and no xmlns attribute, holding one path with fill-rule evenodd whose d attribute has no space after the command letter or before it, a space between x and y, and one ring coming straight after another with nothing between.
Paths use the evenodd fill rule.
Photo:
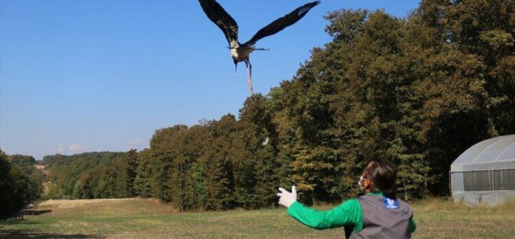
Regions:
<instances>
[{"instance_id":1,"label":"dark hair on the head of the person in grey vest","mask_svg":"<svg viewBox=\"0 0 515 239\"><path fill-rule=\"evenodd\" d=\"M372 190L383 192L385 196L397 195L397 167L389 160L372 160L365 169L365 175L372 183Z\"/></svg>"}]
</instances>

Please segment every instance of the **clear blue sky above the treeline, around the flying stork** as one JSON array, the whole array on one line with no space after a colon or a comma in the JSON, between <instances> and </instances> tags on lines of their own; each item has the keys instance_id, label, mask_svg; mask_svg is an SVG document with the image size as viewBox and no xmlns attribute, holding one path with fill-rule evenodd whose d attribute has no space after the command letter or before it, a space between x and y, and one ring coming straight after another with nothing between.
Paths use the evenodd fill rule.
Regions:
<instances>
[{"instance_id":1,"label":"clear blue sky above the treeline, around the flying stork","mask_svg":"<svg viewBox=\"0 0 515 239\"><path fill-rule=\"evenodd\" d=\"M219 0L246 41L308 1ZM257 43L253 85L291 79L330 41L327 12L384 9L404 17L419 1L326 0ZM222 32L198 1L0 1L0 148L9 155L143 149L154 131L238 115L249 91Z\"/></svg>"}]
</instances>

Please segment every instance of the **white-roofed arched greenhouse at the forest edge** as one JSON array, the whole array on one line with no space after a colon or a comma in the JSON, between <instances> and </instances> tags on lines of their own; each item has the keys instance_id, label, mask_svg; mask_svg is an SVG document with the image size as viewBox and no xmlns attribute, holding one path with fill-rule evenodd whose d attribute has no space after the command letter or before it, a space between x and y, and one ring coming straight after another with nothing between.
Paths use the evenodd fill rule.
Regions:
<instances>
[{"instance_id":1,"label":"white-roofed arched greenhouse at the forest edge","mask_svg":"<svg viewBox=\"0 0 515 239\"><path fill-rule=\"evenodd\" d=\"M455 202L496 205L515 197L515 135L481 141L450 168Z\"/></svg>"}]
</instances>

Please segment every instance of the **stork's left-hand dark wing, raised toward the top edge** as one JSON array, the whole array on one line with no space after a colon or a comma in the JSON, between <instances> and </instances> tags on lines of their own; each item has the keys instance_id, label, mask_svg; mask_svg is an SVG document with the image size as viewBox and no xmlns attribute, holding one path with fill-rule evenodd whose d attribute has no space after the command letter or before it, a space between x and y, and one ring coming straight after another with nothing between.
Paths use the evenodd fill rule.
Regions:
<instances>
[{"instance_id":1,"label":"stork's left-hand dark wing, raised toward the top edge","mask_svg":"<svg viewBox=\"0 0 515 239\"><path fill-rule=\"evenodd\" d=\"M224 32L225 38L229 43L229 47L235 47L238 43L238 24L227 13L222 6L215 0L198 0L202 10L206 13L209 20L220 27Z\"/></svg>"}]
</instances>

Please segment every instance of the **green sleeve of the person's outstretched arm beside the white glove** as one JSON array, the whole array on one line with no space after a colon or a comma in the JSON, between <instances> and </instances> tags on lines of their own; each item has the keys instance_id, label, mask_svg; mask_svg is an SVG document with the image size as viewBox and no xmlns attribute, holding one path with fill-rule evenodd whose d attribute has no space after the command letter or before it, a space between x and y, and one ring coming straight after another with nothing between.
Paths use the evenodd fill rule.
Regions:
<instances>
[{"instance_id":1,"label":"green sleeve of the person's outstretched arm beside the white glove","mask_svg":"<svg viewBox=\"0 0 515 239\"><path fill-rule=\"evenodd\" d=\"M286 213L300 223L315 229L328 229L354 225L363 227L361 206L356 199L350 199L341 205L326 211L318 211L295 202Z\"/></svg>"}]
</instances>

